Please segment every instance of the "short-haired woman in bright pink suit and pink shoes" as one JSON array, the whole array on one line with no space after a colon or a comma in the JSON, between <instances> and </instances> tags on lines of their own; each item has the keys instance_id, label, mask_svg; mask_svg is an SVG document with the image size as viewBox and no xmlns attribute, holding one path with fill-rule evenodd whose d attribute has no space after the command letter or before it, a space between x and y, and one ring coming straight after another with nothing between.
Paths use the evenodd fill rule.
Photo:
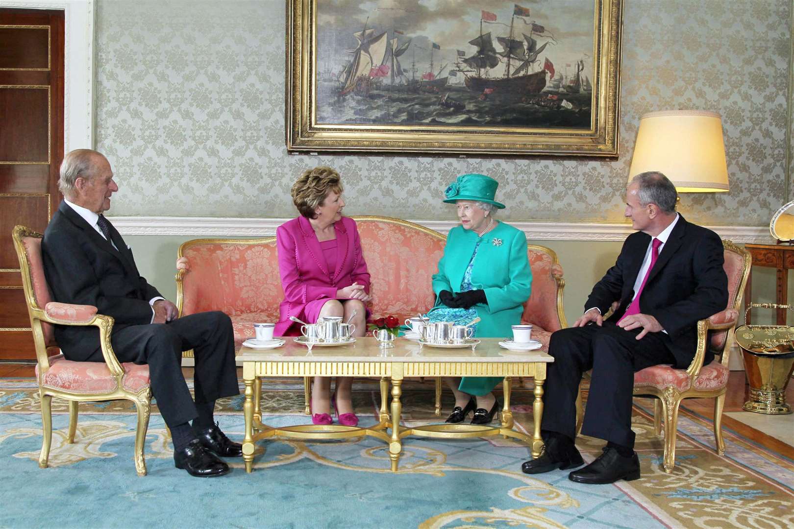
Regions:
<instances>
[{"instance_id":1,"label":"short-haired woman in bright pink suit and pink shoes","mask_svg":"<svg viewBox=\"0 0 794 529\"><path fill-rule=\"evenodd\" d=\"M280 320L274 334L300 335L295 316L313 324L324 316L342 316L356 325L357 336L364 336L370 300L369 273L353 219L342 217L345 201L337 171L315 167L303 171L292 186L292 201L300 217L276 230L279 271L284 301L279 306ZM311 420L331 424L331 380L315 377L311 395ZM333 400L339 424L356 426L358 417L351 401L352 377L337 377Z\"/></svg>"}]
</instances>

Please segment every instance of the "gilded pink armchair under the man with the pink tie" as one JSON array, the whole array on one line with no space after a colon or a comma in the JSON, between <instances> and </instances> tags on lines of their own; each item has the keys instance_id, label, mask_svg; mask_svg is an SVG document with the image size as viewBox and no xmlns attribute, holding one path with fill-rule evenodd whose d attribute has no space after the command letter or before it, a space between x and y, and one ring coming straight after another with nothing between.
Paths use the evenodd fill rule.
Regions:
<instances>
[{"instance_id":1,"label":"gilded pink armchair under the man with the pink tie","mask_svg":"<svg viewBox=\"0 0 794 529\"><path fill-rule=\"evenodd\" d=\"M665 472L672 472L675 466L678 409L684 399L715 399L715 446L719 455L725 453L722 420L728 384L730 343L734 339L739 305L747 276L750 274L752 258L750 252L730 240L723 241L723 247L723 268L728 276L728 305L725 310L697 322L698 341L692 363L685 370L662 364L646 367L634 374L634 396L654 398L653 428L656 435L661 435L661 425L665 425ZM714 353L715 359L703 366L707 347ZM580 390L579 399L576 401L576 431L581 428L583 416Z\"/></svg>"}]
</instances>

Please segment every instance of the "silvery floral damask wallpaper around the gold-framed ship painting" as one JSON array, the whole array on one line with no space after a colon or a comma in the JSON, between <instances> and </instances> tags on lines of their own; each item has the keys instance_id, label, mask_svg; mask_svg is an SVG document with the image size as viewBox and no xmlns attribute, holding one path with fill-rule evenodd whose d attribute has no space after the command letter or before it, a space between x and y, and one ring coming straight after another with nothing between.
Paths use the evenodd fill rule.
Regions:
<instances>
[{"instance_id":1,"label":"silvery floral damask wallpaper around the gold-framed ship painting","mask_svg":"<svg viewBox=\"0 0 794 529\"><path fill-rule=\"evenodd\" d=\"M452 1L452 0L450 0ZM784 201L790 0L626 0L617 161L287 155L285 9L259 2L97 2L96 144L114 165L114 215L291 217L291 182L335 167L349 214L452 218L457 174L499 180L503 217L622 220L639 117L723 115L730 193L680 210L763 225Z\"/></svg>"}]
</instances>

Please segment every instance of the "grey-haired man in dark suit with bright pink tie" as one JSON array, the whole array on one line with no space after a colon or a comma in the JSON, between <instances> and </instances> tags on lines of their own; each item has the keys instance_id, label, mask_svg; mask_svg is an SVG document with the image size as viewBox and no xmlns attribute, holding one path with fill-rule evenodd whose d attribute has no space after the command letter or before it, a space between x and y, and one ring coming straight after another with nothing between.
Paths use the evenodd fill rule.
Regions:
<instances>
[{"instance_id":1,"label":"grey-haired man in dark suit with bright pink tie","mask_svg":"<svg viewBox=\"0 0 794 529\"><path fill-rule=\"evenodd\" d=\"M676 213L676 196L661 173L638 174L630 182L625 214L638 232L626 238L615 266L593 287L584 314L551 336L545 452L525 462L523 472L584 464L573 443L576 395L582 374L592 369L582 433L606 439L607 446L569 478L596 484L640 477L631 431L634 372L657 364L687 367L695 356L697 320L725 309L728 300L723 243ZM614 301L618 309L604 320Z\"/></svg>"}]
</instances>

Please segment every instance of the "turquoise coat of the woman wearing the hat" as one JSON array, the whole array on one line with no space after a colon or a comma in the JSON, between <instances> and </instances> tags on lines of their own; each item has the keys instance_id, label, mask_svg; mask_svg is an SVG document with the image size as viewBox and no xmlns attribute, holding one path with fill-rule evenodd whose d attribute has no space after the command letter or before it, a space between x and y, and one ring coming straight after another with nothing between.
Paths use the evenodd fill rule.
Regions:
<instances>
[{"instance_id":1,"label":"turquoise coat of the woman wearing the hat","mask_svg":"<svg viewBox=\"0 0 794 529\"><path fill-rule=\"evenodd\" d=\"M436 306L441 305L438 298L441 290L460 292L463 274L479 239L480 236L463 226L449 230L444 255L438 262L438 272L433 276ZM483 289L488 299L488 305L473 307L480 316L476 335L480 338L511 336L511 325L521 322L523 304L530 298L531 286L532 270L526 255L526 236L521 230L499 222L483 236L472 266L472 287ZM461 391L487 395L501 380L464 377Z\"/></svg>"}]
</instances>

